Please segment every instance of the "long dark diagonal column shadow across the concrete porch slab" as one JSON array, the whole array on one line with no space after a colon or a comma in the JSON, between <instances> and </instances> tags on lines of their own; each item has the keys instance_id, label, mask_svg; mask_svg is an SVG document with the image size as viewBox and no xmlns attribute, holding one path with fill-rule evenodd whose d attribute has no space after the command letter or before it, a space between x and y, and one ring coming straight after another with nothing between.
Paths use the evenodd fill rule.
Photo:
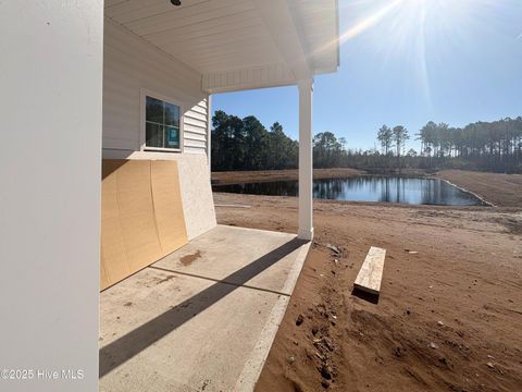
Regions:
<instances>
[{"instance_id":1,"label":"long dark diagonal column shadow across the concrete porch slab","mask_svg":"<svg viewBox=\"0 0 522 392\"><path fill-rule=\"evenodd\" d=\"M240 287L285 256L298 249L308 241L297 237L269 252L257 260L231 273L172 309L157 316L122 338L100 348L100 375L103 377L148 346L174 331L185 322L206 310L226 295ZM173 272L175 273L175 272ZM234 282L234 283L231 283Z\"/></svg>"}]
</instances>

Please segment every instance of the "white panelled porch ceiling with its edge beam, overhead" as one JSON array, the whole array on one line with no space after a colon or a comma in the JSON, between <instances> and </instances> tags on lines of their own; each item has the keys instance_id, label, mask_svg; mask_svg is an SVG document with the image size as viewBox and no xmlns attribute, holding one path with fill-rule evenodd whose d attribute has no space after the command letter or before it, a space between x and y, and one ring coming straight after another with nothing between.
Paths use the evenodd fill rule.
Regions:
<instances>
[{"instance_id":1,"label":"white panelled porch ceiling with its edge beam, overhead","mask_svg":"<svg viewBox=\"0 0 522 392\"><path fill-rule=\"evenodd\" d=\"M336 0L105 0L105 16L200 72L209 93L338 66Z\"/></svg>"}]
</instances>

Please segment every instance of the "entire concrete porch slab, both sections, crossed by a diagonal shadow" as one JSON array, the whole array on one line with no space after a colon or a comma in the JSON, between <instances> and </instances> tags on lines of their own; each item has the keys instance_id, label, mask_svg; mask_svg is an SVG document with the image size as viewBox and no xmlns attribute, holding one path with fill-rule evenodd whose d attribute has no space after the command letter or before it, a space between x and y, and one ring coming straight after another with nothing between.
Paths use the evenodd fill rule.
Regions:
<instances>
[{"instance_id":1,"label":"entire concrete porch slab, both sections, crossed by a diagonal shadow","mask_svg":"<svg viewBox=\"0 0 522 392\"><path fill-rule=\"evenodd\" d=\"M309 247L217 226L102 292L100 390L251 391Z\"/></svg>"}]
</instances>

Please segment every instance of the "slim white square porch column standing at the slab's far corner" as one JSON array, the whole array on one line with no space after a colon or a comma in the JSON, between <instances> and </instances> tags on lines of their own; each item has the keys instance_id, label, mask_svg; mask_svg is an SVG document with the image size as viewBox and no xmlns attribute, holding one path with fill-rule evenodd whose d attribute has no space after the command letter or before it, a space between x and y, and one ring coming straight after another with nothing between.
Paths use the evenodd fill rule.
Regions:
<instances>
[{"instance_id":1,"label":"slim white square porch column standing at the slab's far corner","mask_svg":"<svg viewBox=\"0 0 522 392\"><path fill-rule=\"evenodd\" d=\"M312 91L313 79L299 87L299 231L298 237L313 238Z\"/></svg>"}]
</instances>

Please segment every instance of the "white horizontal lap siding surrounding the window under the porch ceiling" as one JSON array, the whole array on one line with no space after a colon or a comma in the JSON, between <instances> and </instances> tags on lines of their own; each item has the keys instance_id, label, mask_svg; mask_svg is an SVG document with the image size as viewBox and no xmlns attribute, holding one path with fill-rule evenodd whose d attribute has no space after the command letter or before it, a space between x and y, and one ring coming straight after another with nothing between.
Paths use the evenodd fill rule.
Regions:
<instances>
[{"instance_id":1,"label":"white horizontal lap siding surrounding the window under the porch ceiling","mask_svg":"<svg viewBox=\"0 0 522 392\"><path fill-rule=\"evenodd\" d=\"M141 149L140 91L146 89L182 105L183 152L206 154L208 108L201 74L109 19L104 28L103 149Z\"/></svg>"}]
</instances>

